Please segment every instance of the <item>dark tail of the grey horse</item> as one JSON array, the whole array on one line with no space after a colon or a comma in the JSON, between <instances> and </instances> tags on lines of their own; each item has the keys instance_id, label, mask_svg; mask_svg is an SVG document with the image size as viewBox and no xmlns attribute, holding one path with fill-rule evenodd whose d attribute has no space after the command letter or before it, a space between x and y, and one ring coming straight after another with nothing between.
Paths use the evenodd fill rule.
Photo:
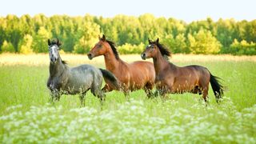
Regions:
<instances>
[{"instance_id":1,"label":"dark tail of the grey horse","mask_svg":"<svg viewBox=\"0 0 256 144\"><path fill-rule=\"evenodd\" d=\"M120 84L118 81L118 78L114 76L109 70L103 70L99 69L102 71L102 75L105 79L105 82L108 83L110 86L114 86L114 90L119 90L120 89ZM109 83L111 82L111 83Z\"/></svg>"}]
</instances>

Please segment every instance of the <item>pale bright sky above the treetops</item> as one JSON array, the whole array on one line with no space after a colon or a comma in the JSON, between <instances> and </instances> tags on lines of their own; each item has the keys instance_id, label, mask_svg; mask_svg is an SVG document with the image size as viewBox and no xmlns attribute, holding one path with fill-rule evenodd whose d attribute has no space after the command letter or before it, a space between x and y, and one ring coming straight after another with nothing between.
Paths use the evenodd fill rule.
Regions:
<instances>
[{"instance_id":1,"label":"pale bright sky above the treetops","mask_svg":"<svg viewBox=\"0 0 256 144\"><path fill-rule=\"evenodd\" d=\"M186 22L213 18L256 19L256 0L3 0L0 16L6 14L92 14L104 18L117 14L177 18Z\"/></svg>"}]
</instances>

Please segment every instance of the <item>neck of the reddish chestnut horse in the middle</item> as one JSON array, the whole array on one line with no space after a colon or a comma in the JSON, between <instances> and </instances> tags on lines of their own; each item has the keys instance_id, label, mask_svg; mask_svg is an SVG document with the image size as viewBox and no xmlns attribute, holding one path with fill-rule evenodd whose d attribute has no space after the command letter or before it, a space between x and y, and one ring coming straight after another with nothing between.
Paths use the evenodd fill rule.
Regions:
<instances>
[{"instance_id":1,"label":"neck of the reddish chestnut horse in the middle","mask_svg":"<svg viewBox=\"0 0 256 144\"><path fill-rule=\"evenodd\" d=\"M114 52L109 48L104 54L106 70L114 71L119 63L122 61L120 58L115 58Z\"/></svg>"}]
</instances>

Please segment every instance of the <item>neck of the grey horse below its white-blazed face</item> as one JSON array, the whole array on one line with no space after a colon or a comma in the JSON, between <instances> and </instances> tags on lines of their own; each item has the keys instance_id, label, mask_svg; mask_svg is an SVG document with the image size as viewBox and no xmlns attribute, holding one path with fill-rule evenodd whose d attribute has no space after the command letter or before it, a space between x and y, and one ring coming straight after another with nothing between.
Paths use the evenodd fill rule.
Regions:
<instances>
[{"instance_id":1,"label":"neck of the grey horse below its white-blazed face","mask_svg":"<svg viewBox=\"0 0 256 144\"><path fill-rule=\"evenodd\" d=\"M50 62L50 77L59 76L67 70L67 66L62 63L62 59L58 58L58 62L52 64Z\"/></svg>"}]
</instances>

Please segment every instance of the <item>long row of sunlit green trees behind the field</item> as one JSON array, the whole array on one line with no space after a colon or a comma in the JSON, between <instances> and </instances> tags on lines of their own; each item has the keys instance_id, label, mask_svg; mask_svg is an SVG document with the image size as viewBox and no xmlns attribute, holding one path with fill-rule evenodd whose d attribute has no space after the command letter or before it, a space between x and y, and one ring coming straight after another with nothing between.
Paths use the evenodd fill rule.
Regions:
<instances>
[{"instance_id":1,"label":"long row of sunlit green trees behind the field","mask_svg":"<svg viewBox=\"0 0 256 144\"><path fill-rule=\"evenodd\" d=\"M141 53L147 39L159 38L173 53L183 54L256 54L256 20L211 18L186 23L175 18L116 15L102 18L86 14L46 17L29 14L18 18L0 17L0 52L46 53L47 39L59 38L65 52L85 54L98 34L115 42L121 54Z\"/></svg>"}]
</instances>

